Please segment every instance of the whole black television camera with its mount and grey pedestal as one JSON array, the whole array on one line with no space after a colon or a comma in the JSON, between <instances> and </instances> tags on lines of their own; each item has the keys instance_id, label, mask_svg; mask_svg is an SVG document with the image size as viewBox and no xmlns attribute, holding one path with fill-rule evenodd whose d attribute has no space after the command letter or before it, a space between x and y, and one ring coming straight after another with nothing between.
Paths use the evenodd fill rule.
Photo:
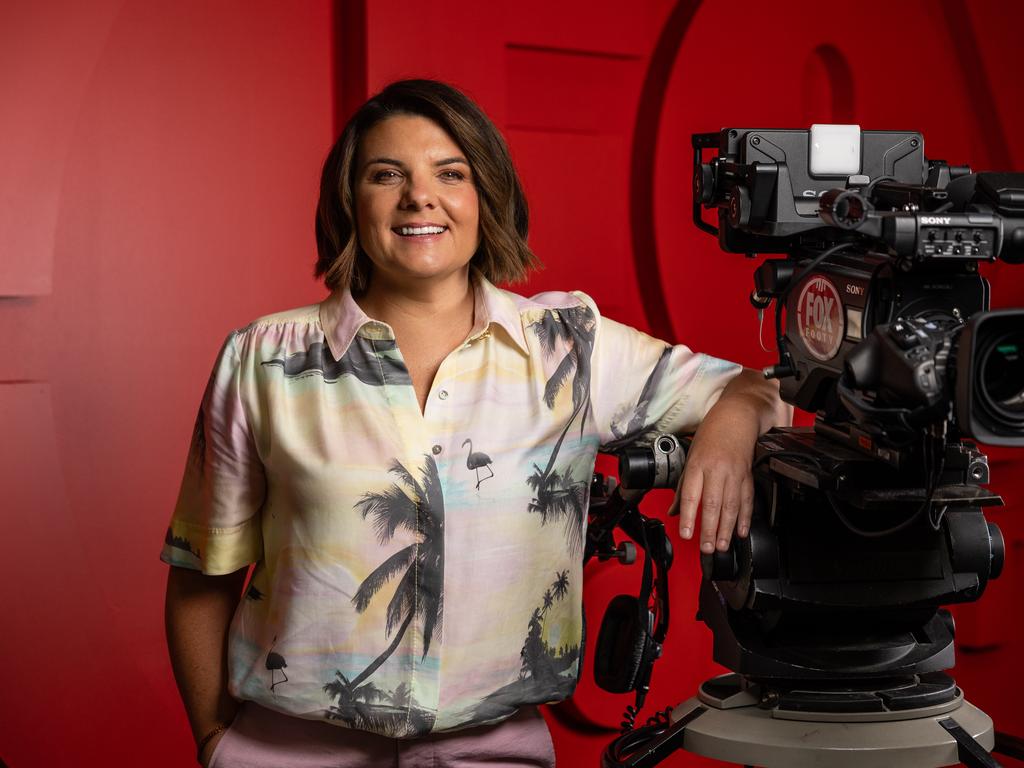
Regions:
<instances>
[{"instance_id":1,"label":"whole black television camera with its mount and grey pedestal","mask_svg":"<svg viewBox=\"0 0 1024 768\"><path fill-rule=\"evenodd\" d=\"M941 606L977 600L1002 566L977 442L1024 445L1024 310L989 310L979 264L1024 261L1024 174L858 126L692 145L695 225L724 251L781 254L751 294L774 307L765 376L816 418L759 440L750 534L701 556L699 617L731 674L605 765L684 741L765 766L997 765L991 720L944 672Z\"/></svg>"}]
</instances>

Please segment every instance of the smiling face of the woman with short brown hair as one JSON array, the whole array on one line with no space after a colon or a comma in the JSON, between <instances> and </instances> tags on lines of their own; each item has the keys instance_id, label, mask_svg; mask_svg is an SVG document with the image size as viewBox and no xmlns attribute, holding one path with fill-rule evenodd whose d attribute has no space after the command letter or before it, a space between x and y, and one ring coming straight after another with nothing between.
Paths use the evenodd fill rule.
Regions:
<instances>
[{"instance_id":1,"label":"smiling face of the woman with short brown hair","mask_svg":"<svg viewBox=\"0 0 1024 768\"><path fill-rule=\"evenodd\" d=\"M466 273L479 244L469 163L439 125L398 115L356 153L355 226L374 273L399 285Z\"/></svg>"}]
</instances>

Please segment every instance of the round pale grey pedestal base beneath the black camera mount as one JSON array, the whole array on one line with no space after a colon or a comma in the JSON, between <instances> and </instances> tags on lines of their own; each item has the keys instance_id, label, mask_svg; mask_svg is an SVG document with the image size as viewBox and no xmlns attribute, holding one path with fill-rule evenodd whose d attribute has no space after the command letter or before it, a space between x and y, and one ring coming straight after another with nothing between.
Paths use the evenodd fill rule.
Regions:
<instances>
[{"instance_id":1,"label":"round pale grey pedestal base beneath the black camera mount","mask_svg":"<svg viewBox=\"0 0 1024 768\"><path fill-rule=\"evenodd\" d=\"M757 686L748 687L738 675L723 675L677 706L672 722L698 708L705 712L686 725L683 749L764 768L957 765L963 741L950 732L950 719L985 751L994 744L991 718L958 690L952 700L901 712L780 712L761 706Z\"/></svg>"}]
</instances>

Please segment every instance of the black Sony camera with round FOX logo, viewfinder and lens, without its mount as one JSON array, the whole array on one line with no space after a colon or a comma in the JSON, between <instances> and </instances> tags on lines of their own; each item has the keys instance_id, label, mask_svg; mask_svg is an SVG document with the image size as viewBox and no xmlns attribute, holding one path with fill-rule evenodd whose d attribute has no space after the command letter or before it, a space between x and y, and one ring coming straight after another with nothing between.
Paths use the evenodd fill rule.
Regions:
<instances>
[{"instance_id":1,"label":"black Sony camera with round FOX logo, viewfinder and lens, without its mount","mask_svg":"<svg viewBox=\"0 0 1024 768\"><path fill-rule=\"evenodd\" d=\"M1024 260L1024 174L974 174L927 160L920 133L857 126L723 129L693 147L696 225L728 252L785 254L752 295L776 302L784 400L874 442L947 423L1024 444L1024 311L983 314L978 270Z\"/></svg>"}]
</instances>

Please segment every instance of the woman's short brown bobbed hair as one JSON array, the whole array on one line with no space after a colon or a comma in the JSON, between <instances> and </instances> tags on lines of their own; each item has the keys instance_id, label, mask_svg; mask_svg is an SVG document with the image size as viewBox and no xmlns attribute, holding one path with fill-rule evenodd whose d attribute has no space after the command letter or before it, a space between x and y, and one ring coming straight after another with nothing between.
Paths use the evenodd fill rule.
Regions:
<instances>
[{"instance_id":1,"label":"woman's short brown bobbed hair","mask_svg":"<svg viewBox=\"0 0 1024 768\"><path fill-rule=\"evenodd\" d=\"M435 80L391 83L356 111L331 147L316 205L316 276L331 290L369 285L370 260L355 232L355 155L371 128L396 115L432 120L469 161L480 201L480 245L471 263L492 283L523 280L540 262L526 245L529 211L505 139L465 93Z\"/></svg>"}]
</instances>

